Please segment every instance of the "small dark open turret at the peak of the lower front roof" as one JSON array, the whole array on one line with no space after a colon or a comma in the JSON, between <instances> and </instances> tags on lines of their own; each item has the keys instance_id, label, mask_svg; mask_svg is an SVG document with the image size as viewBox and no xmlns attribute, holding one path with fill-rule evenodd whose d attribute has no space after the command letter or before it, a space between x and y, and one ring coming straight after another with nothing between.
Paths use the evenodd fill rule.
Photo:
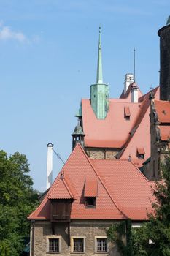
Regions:
<instances>
[{"instance_id":1,"label":"small dark open turret at the peak of the lower front roof","mask_svg":"<svg viewBox=\"0 0 170 256\"><path fill-rule=\"evenodd\" d=\"M83 147L84 137L85 137L85 134L82 131L82 127L80 126L80 121L79 121L79 123L74 129L74 132L72 133L72 149L74 149L77 143L80 143L80 145Z\"/></svg>"}]
</instances>

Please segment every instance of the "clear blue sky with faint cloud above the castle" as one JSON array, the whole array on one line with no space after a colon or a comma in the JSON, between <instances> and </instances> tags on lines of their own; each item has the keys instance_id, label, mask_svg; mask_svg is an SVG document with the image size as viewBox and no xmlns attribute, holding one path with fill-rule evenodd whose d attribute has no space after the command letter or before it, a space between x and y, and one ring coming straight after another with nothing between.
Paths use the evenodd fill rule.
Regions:
<instances>
[{"instance_id":1,"label":"clear blue sky with faint cloud above the castle","mask_svg":"<svg viewBox=\"0 0 170 256\"><path fill-rule=\"evenodd\" d=\"M110 97L133 72L145 93L158 86L158 29L169 0L0 0L1 149L26 154L34 187L45 190L46 144L66 160L74 114L96 81L101 26L104 82ZM54 156L54 177L62 164Z\"/></svg>"}]
</instances>

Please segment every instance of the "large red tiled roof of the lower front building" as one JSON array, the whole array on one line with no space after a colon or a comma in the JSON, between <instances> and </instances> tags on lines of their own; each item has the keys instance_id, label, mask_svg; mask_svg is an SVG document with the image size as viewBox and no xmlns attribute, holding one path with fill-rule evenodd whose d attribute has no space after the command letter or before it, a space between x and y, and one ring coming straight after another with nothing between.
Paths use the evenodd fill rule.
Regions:
<instances>
[{"instance_id":1,"label":"large red tiled roof of the lower front building","mask_svg":"<svg viewBox=\"0 0 170 256\"><path fill-rule=\"evenodd\" d=\"M63 179L61 173L64 173ZM58 195L61 198L62 193L63 197L76 194L71 219L142 220L147 219L147 211L152 210L152 182L147 181L132 162L89 159L80 144L77 144L61 173L28 219L50 219L49 198L53 199ZM66 193L65 180L69 189L72 187L72 192L66 187ZM87 180L98 181L96 208L85 208L84 187Z\"/></svg>"}]
</instances>

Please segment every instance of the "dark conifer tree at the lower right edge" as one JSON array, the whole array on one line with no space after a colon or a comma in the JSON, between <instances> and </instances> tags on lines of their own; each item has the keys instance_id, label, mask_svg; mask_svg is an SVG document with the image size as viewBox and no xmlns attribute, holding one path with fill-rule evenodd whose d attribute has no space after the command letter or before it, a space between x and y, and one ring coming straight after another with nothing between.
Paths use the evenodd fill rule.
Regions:
<instances>
[{"instance_id":1,"label":"dark conifer tree at the lower right edge","mask_svg":"<svg viewBox=\"0 0 170 256\"><path fill-rule=\"evenodd\" d=\"M161 164L161 181L155 182L153 189L154 212L149 214L149 221L136 233L137 244L145 255L170 255L170 157ZM151 244L149 244L149 241Z\"/></svg>"}]
</instances>

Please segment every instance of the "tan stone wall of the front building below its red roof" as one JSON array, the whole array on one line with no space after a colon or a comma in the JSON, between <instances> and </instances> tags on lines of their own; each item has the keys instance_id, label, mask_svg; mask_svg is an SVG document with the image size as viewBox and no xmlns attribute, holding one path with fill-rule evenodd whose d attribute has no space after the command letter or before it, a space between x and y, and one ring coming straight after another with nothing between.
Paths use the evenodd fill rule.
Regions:
<instances>
[{"instance_id":1,"label":"tan stone wall of the front building below its red roof","mask_svg":"<svg viewBox=\"0 0 170 256\"><path fill-rule=\"evenodd\" d=\"M82 220L72 221L70 225L71 246L69 246L68 227L65 223L55 223L55 234L52 234L52 226L47 221L36 221L34 224L34 256L50 256L48 253L48 238L59 238L61 252L59 255L77 256L77 253L72 252L72 238L79 237L85 241L85 252L78 253L80 256L99 256L101 253L96 253L96 238L106 238L106 230L112 225L112 221L93 221ZM32 241L32 240L31 240ZM120 256L117 252L117 246L108 241L108 252L102 253L103 256ZM58 253L53 253L58 255ZM32 255L31 255L32 256Z\"/></svg>"}]
</instances>

